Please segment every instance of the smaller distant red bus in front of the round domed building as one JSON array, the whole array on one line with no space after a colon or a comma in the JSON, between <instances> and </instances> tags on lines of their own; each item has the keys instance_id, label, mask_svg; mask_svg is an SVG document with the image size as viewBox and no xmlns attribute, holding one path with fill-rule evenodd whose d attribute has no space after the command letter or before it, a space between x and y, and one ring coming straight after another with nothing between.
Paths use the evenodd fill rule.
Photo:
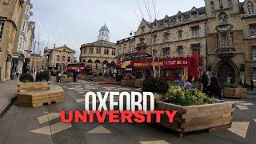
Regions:
<instances>
[{"instance_id":1,"label":"smaller distant red bus in front of the round domed building","mask_svg":"<svg viewBox=\"0 0 256 144\"><path fill-rule=\"evenodd\" d=\"M90 64L85 62L68 64L66 66L66 73L71 74L74 70L76 70L79 74L89 74L92 70Z\"/></svg>"}]
</instances>

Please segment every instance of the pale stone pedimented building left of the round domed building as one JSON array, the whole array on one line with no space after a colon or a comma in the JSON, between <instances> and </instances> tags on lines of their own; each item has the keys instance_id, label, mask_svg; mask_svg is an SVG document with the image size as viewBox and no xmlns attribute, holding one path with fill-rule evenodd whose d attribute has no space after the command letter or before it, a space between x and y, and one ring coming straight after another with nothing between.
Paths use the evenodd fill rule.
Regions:
<instances>
[{"instance_id":1,"label":"pale stone pedimented building left of the round domed building","mask_svg":"<svg viewBox=\"0 0 256 144\"><path fill-rule=\"evenodd\" d=\"M42 68L51 71L64 71L67 64L74 63L74 54L75 51L66 45L54 47L54 49L46 48L44 50Z\"/></svg>"}]
</instances>

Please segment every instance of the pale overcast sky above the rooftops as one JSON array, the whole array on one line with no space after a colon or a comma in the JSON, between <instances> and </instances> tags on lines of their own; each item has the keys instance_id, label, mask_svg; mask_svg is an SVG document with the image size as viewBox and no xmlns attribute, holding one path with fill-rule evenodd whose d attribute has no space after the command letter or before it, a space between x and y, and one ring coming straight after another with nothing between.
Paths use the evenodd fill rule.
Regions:
<instances>
[{"instance_id":1,"label":"pale overcast sky above the rooftops","mask_svg":"<svg viewBox=\"0 0 256 144\"><path fill-rule=\"evenodd\" d=\"M154 1L154 0L147 0ZM155 0L157 19L174 15L178 10L191 10L193 6L204 6L204 0ZM142 14L147 15L142 0L31 0L34 5L31 20L40 23L42 46L52 48L66 44L77 51L83 43L94 42L98 30L106 22L110 30L110 41L127 38L136 31ZM135 11L135 12L134 12ZM153 10L152 10L153 11ZM137 16L136 16L137 15ZM148 19L148 18L147 18ZM38 30L36 31L38 34Z\"/></svg>"}]
</instances>

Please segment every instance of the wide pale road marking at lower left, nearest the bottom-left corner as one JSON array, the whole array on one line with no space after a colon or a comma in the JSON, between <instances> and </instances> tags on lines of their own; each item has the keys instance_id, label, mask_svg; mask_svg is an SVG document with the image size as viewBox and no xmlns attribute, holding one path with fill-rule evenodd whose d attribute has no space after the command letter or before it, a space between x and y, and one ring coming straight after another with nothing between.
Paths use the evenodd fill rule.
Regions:
<instances>
[{"instance_id":1,"label":"wide pale road marking at lower left, nearest the bottom-left corner","mask_svg":"<svg viewBox=\"0 0 256 144\"><path fill-rule=\"evenodd\" d=\"M50 134L56 134L58 132L61 132L62 130L67 130L71 127L72 126L70 123L58 122L58 123L55 123L50 126L44 126L42 128L36 129L36 130L30 130L30 132L35 133L35 134L50 135Z\"/></svg>"}]
</instances>

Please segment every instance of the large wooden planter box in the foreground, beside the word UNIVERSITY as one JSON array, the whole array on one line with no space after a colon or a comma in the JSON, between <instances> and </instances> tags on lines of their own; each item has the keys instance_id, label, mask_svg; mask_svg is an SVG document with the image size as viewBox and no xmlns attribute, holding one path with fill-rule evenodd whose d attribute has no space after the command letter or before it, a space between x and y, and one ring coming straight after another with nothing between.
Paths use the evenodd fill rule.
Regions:
<instances>
[{"instance_id":1,"label":"large wooden planter box in the foreground, beside the word UNIVERSITY","mask_svg":"<svg viewBox=\"0 0 256 144\"><path fill-rule=\"evenodd\" d=\"M198 130L223 130L231 127L234 103L218 102L198 106L177 106L166 102L156 102L156 110L178 110L174 123L168 122L168 117L162 115L159 124L180 134Z\"/></svg>"}]
</instances>

